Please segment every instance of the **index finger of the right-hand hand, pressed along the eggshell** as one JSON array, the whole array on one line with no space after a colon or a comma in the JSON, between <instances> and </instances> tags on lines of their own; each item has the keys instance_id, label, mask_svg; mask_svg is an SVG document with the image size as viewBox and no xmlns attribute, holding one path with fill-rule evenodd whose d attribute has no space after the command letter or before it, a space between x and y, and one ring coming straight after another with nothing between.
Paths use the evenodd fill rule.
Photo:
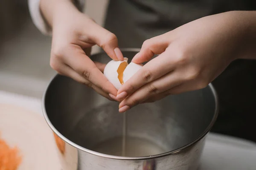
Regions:
<instances>
[{"instance_id":1,"label":"index finger of the right-hand hand, pressed along the eggshell","mask_svg":"<svg viewBox=\"0 0 256 170\"><path fill-rule=\"evenodd\" d=\"M117 98L124 98L131 95L134 91L143 85L162 77L163 75L173 71L175 65L172 64L170 53L165 51L160 56L152 59L145 64L136 74L134 74L117 92ZM120 94L120 95L119 95ZM126 94L126 96L124 96Z\"/></svg>"}]
</instances>

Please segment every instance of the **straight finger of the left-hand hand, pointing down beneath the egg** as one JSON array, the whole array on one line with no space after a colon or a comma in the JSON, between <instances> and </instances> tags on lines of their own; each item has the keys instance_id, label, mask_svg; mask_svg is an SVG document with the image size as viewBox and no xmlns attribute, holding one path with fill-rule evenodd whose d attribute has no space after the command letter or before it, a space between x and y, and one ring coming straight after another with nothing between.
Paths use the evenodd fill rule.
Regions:
<instances>
[{"instance_id":1,"label":"straight finger of the left-hand hand, pointing down beneath the egg","mask_svg":"<svg viewBox=\"0 0 256 170\"><path fill-rule=\"evenodd\" d=\"M80 51L79 48L68 50L63 57L63 62L84 77L84 79L89 80L106 93L116 96L117 90L113 84L108 81L94 62L84 54L84 51Z\"/></svg>"}]
</instances>

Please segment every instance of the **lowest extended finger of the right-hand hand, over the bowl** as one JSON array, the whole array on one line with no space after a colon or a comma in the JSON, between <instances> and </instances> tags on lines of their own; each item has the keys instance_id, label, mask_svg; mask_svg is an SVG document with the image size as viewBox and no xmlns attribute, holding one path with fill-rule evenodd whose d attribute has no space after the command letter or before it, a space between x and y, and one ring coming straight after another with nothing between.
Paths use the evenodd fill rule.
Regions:
<instances>
[{"instance_id":1,"label":"lowest extended finger of the right-hand hand, over the bowl","mask_svg":"<svg viewBox=\"0 0 256 170\"><path fill-rule=\"evenodd\" d=\"M166 74L165 76L160 77L159 79L156 79L135 91L131 96L128 96L119 104L119 108L124 106L132 108L152 96L161 94L170 88L180 85L182 82L183 78L180 76L179 72L170 72L169 74Z\"/></svg>"}]
</instances>

